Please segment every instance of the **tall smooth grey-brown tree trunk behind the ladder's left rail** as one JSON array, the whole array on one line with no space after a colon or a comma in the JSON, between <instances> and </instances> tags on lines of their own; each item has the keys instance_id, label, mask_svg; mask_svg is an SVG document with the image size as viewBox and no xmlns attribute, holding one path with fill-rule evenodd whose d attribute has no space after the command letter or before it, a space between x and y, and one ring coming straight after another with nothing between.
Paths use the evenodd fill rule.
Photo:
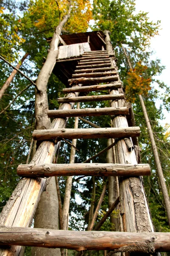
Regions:
<instances>
[{"instance_id":1,"label":"tall smooth grey-brown tree trunk behind the ladder's left rail","mask_svg":"<svg viewBox=\"0 0 170 256\"><path fill-rule=\"evenodd\" d=\"M47 84L48 79L51 76L52 70L56 63L59 45L59 35L62 32L62 27L70 17L71 3L69 5L68 15L65 15L63 20L57 26L48 52L45 64L43 65L40 74L37 78L36 98L35 98L35 128L36 129L48 129L51 121L48 118L48 98L47 98ZM55 183L55 177L51 177L49 185L46 191L42 194L36 214L34 227L45 228L48 226L52 229L58 229L58 197L57 188ZM59 249L43 249L32 248L32 256L60 256Z\"/></svg>"}]
</instances>

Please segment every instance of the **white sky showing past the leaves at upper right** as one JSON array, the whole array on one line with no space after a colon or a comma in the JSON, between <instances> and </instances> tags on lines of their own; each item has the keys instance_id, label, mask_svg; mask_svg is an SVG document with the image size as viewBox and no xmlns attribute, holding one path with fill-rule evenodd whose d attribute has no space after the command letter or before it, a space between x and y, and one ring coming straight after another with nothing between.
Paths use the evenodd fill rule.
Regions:
<instances>
[{"instance_id":1,"label":"white sky showing past the leaves at upper right","mask_svg":"<svg viewBox=\"0 0 170 256\"><path fill-rule=\"evenodd\" d=\"M136 11L149 12L148 17L153 22L161 20L159 35L151 39L151 49L155 58L161 59L161 64L166 66L159 80L170 86L170 0L136 0ZM170 113L164 112L166 119L161 123L170 123Z\"/></svg>"}]
</instances>

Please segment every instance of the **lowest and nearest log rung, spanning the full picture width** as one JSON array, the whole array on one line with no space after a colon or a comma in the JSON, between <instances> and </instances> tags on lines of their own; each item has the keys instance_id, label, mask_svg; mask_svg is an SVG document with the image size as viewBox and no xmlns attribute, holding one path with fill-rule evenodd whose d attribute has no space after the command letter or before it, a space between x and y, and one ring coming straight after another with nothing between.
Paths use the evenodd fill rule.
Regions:
<instances>
[{"instance_id":1,"label":"lowest and nearest log rung, spanning the full picture width","mask_svg":"<svg viewBox=\"0 0 170 256\"><path fill-rule=\"evenodd\" d=\"M155 253L170 251L170 233L49 230L1 227L1 245L22 245L71 250Z\"/></svg>"}]
</instances>

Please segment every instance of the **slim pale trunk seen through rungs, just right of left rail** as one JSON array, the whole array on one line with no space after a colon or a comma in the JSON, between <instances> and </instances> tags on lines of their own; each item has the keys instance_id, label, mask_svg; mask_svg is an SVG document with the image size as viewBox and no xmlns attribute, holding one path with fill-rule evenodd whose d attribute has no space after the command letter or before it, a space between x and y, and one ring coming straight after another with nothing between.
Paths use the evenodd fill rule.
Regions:
<instances>
[{"instance_id":1,"label":"slim pale trunk seen through rungs, just right of left rail","mask_svg":"<svg viewBox=\"0 0 170 256\"><path fill-rule=\"evenodd\" d=\"M77 103L77 109L79 109L79 102ZM75 117L75 122L74 122L74 129L78 128L78 123L79 123L79 117ZM72 140L72 144L76 147L77 144L77 139ZM76 154L76 149L74 147L71 147L71 153L70 153L70 163L74 163L75 160L75 154ZM72 187L72 180L73 176L69 176L67 178L67 183L65 187L65 197L64 197L64 204L63 204L63 209L62 209L62 221L63 221L63 229L67 229L67 222L68 222L68 212L69 212L69 207L70 207L70 198L71 198L71 187Z\"/></svg>"}]
</instances>

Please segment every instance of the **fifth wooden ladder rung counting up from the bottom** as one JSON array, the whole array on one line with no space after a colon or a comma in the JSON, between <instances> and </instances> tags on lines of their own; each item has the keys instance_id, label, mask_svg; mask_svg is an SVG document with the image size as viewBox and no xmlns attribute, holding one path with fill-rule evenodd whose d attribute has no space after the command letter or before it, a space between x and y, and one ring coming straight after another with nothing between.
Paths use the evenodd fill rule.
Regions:
<instances>
[{"instance_id":1,"label":"fifth wooden ladder rung counting up from the bottom","mask_svg":"<svg viewBox=\"0 0 170 256\"><path fill-rule=\"evenodd\" d=\"M117 95L108 94L108 95L92 95L92 96L79 96L79 97L70 97L70 98L58 98L59 103L69 103L69 102L93 102L93 101L103 101L103 100L116 100L124 99L124 94L120 93Z\"/></svg>"}]
</instances>

